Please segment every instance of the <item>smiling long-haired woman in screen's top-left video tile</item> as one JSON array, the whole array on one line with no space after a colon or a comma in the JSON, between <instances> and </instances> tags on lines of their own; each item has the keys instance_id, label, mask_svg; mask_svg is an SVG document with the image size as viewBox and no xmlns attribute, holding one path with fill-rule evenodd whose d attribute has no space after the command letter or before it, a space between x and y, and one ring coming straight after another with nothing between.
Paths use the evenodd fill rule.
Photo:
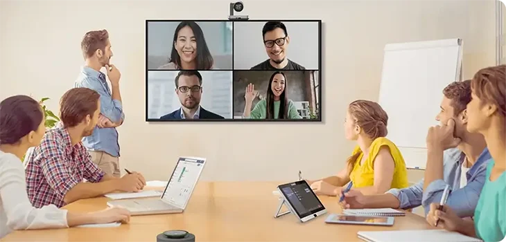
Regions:
<instances>
[{"instance_id":1,"label":"smiling long-haired woman in screen's top-left video tile","mask_svg":"<svg viewBox=\"0 0 506 242\"><path fill-rule=\"evenodd\" d=\"M211 70L213 57L202 28L194 21L182 21L174 31L171 59L162 70Z\"/></svg>"}]
</instances>

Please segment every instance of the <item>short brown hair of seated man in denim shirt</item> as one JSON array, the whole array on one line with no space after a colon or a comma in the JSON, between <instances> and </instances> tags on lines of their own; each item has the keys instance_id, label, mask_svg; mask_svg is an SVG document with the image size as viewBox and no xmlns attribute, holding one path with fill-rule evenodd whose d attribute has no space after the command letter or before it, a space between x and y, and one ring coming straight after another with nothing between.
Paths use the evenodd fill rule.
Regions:
<instances>
[{"instance_id":1,"label":"short brown hair of seated man in denim shirt","mask_svg":"<svg viewBox=\"0 0 506 242\"><path fill-rule=\"evenodd\" d=\"M471 80L462 82L452 82L443 89L443 95L451 100L454 115L466 109L466 106L471 102Z\"/></svg>"}]
</instances>

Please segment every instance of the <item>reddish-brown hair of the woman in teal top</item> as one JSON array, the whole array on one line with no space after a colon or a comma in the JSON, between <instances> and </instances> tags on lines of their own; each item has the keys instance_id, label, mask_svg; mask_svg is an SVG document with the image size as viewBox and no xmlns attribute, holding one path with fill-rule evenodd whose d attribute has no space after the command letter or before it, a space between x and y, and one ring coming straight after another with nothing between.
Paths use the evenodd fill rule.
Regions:
<instances>
[{"instance_id":1,"label":"reddish-brown hair of the woman in teal top","mask_svg":"<svg viewBox=\"0 0 506 242\"><path fill-rule=\"evenodd\" d=\"M506 65L482 68L471 80L471 90L483 102L495 104L506 116Z\"/></svg>"}]
</instances>

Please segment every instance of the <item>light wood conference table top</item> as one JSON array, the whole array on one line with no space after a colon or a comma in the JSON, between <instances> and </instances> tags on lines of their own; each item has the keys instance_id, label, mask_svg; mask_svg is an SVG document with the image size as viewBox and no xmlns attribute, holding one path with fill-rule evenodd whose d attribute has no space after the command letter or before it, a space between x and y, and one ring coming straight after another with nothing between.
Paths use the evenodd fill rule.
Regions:
<instances>
[{"instance_id":1,"label":"light wood conference table top","mask_svg":"<svg viewBox=\"0 0 506 242\"><path fill-rule=\"evenodd\" d=\"M130 223L119 227L15 231L1 241L156 241L157 234L166 230L186 230L195 234L195 241L206 242L362 241L358 239L358 231L431 229L423 217L410 212L395 217L393 226L328 224L324 221L329 214L342 211L338 198L329 196L319 196L328 211L323 216L305 223L300 223L295 214L274 218L279 198L272 191L279 184L200 181L186 210L180 214L132 216ZM82 199L64 208L71 212L103 210L108 200Z\"/></svg>"}]
</instances>

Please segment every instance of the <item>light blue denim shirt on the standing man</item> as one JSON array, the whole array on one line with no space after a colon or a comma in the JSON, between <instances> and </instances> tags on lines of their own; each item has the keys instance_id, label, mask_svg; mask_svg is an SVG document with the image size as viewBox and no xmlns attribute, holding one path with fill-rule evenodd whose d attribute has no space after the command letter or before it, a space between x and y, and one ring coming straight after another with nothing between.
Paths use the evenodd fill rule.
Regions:
<instances>
[{"instance_id":1,"label":"light blue denim shirt on the standing man","mask_svg":"<svg viewBox=\"0 0 506 242\"><path fill-rule=\"evenodd\" d=\"M100 94L100 112L112 122L125 120L123 105L119 100L113 100L112 94L105 80L105 74L83 66L74 87L86 87ZM82 144L91 151L104 151L111 156L119 157L118 132L116 128L94 128L91 136L82 138Z\"/></svg>"}]
</instances>

